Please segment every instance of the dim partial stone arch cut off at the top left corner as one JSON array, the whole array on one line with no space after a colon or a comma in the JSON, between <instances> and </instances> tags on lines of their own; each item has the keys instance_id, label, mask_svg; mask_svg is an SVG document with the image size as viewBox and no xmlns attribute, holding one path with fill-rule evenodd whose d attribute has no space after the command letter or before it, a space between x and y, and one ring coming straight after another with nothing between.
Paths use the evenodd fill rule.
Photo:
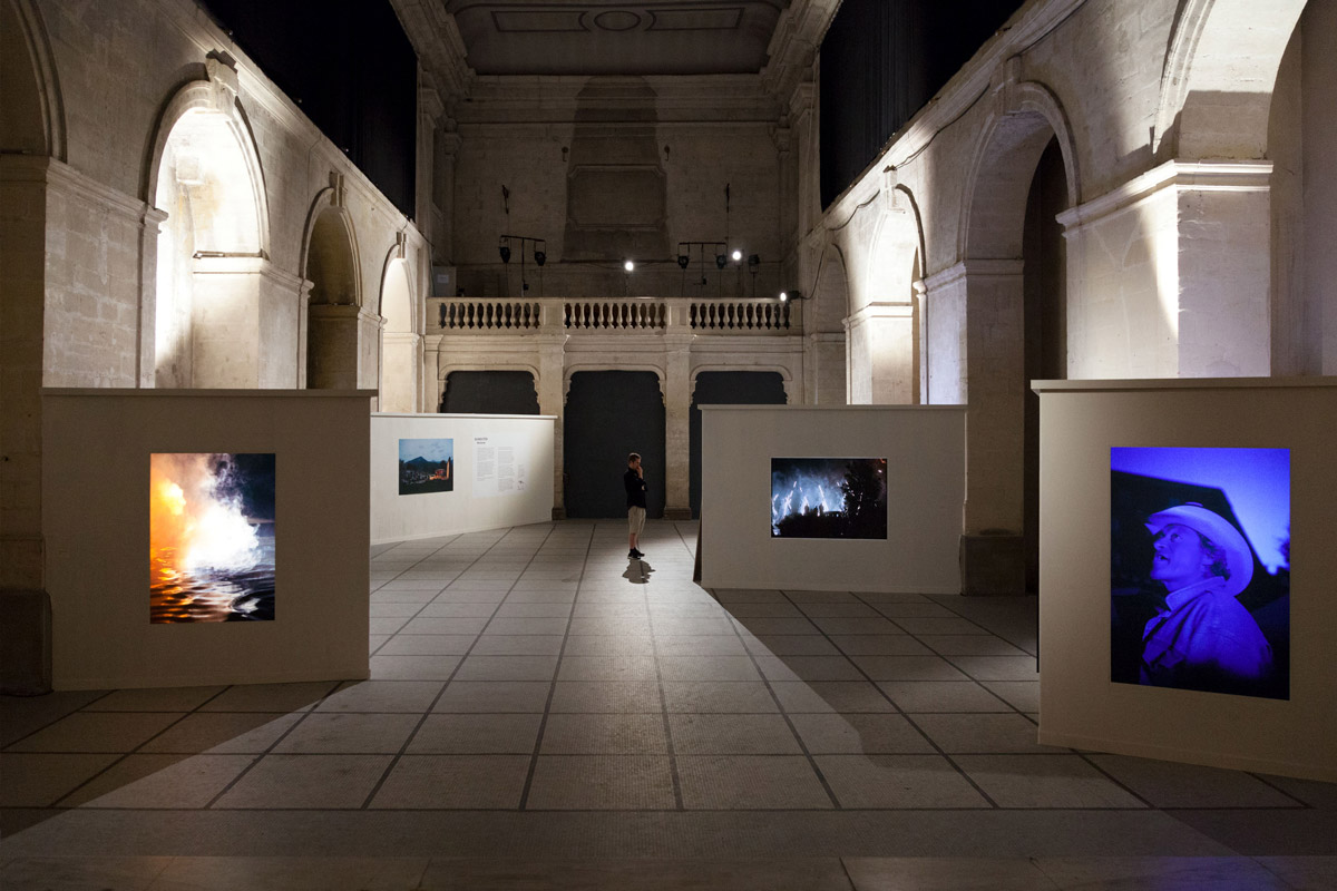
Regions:
<instances>
[{"instance_id":1,"label":"dim partial stone arch cut off at the top left corner","mask_svg":"<svg viewBox=\"0 0 1337 891\"><path fill-rule=\"evenodd\" d=\"M0 150L66 160L66 112L41 13L0 3Z\"/></svg>"}]
</instances>

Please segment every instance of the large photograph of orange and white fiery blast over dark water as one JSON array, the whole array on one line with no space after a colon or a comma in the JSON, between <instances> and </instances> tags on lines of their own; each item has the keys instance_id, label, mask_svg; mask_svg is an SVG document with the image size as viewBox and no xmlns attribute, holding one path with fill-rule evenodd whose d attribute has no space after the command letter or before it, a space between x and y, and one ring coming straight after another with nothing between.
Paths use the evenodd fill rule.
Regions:
<instances>
[{"instance_id":1,"label":"large photograph of orange and white fiery blast over dark water","mask_svg":"<svg viewBox=\"0 0 1337 891\"><path fill-rule=\"evenodd\" d=\"M274 456L148 458L148 621L274 618Z\"/></svg>"}]
</instances>

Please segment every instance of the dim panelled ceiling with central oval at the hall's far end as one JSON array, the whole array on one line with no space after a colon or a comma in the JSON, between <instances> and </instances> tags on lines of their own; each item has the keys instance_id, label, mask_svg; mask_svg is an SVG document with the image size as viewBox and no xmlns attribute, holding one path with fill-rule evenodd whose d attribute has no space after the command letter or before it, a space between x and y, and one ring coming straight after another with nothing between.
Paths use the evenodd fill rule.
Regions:
<instances>
[{"instance_id":1,"label":"dim panelled ceiling with central oval at the hall's far end","mask_svg":"<svg viewBox=\"0 0 1337 891\"><path fill-rule=\"evenodd\" d=\"M755 73L790 0L441 0L480 75Z\"/></svg>"}]
</instances>

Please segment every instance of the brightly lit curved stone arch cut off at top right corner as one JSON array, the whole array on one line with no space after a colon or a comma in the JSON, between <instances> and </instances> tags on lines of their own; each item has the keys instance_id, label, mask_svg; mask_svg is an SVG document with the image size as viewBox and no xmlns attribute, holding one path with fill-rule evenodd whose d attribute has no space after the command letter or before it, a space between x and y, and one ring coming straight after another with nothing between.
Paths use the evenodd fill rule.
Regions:
<instances>
[{"instance_id":1,"label":"brightly lit curved stone arch cut off at top right corner","mask_svg":"<svg viewBox=\"0 0 1337 891\"><path fill-rule=\"evenodd\" d=\"M1175 19L1152 134L1174 158L1267 151L1273 85L1305 0L1186 0Z\"/></svg>"}]
</instances>

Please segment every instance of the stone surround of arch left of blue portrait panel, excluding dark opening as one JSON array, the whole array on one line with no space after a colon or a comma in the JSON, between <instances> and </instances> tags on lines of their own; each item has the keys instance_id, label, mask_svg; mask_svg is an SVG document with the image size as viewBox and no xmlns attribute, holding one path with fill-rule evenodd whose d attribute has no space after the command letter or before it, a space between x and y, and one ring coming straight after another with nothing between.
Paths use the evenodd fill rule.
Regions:
<instances>
[{"instance_id":1,"label":"stone surround of arch left of blue portrait panel, excluding dark opening","mask_svg":"<svg viewBox=\"0 0 1337 891\"><path fill-rule=\"evenodd\" d=\"M1059 148L1067 207L1080 200L1074 140L1058 99L1042 84L1005 81L993 102L965 180L957 244L963 262L952 285L964 291L967 593L1024 590L1028 562L1035 562L1025 536L1027 508L1038 492L1025 472L1034 443L1023 258L1027 208L1051 143Z\"/></svg>"}]
</instances>

